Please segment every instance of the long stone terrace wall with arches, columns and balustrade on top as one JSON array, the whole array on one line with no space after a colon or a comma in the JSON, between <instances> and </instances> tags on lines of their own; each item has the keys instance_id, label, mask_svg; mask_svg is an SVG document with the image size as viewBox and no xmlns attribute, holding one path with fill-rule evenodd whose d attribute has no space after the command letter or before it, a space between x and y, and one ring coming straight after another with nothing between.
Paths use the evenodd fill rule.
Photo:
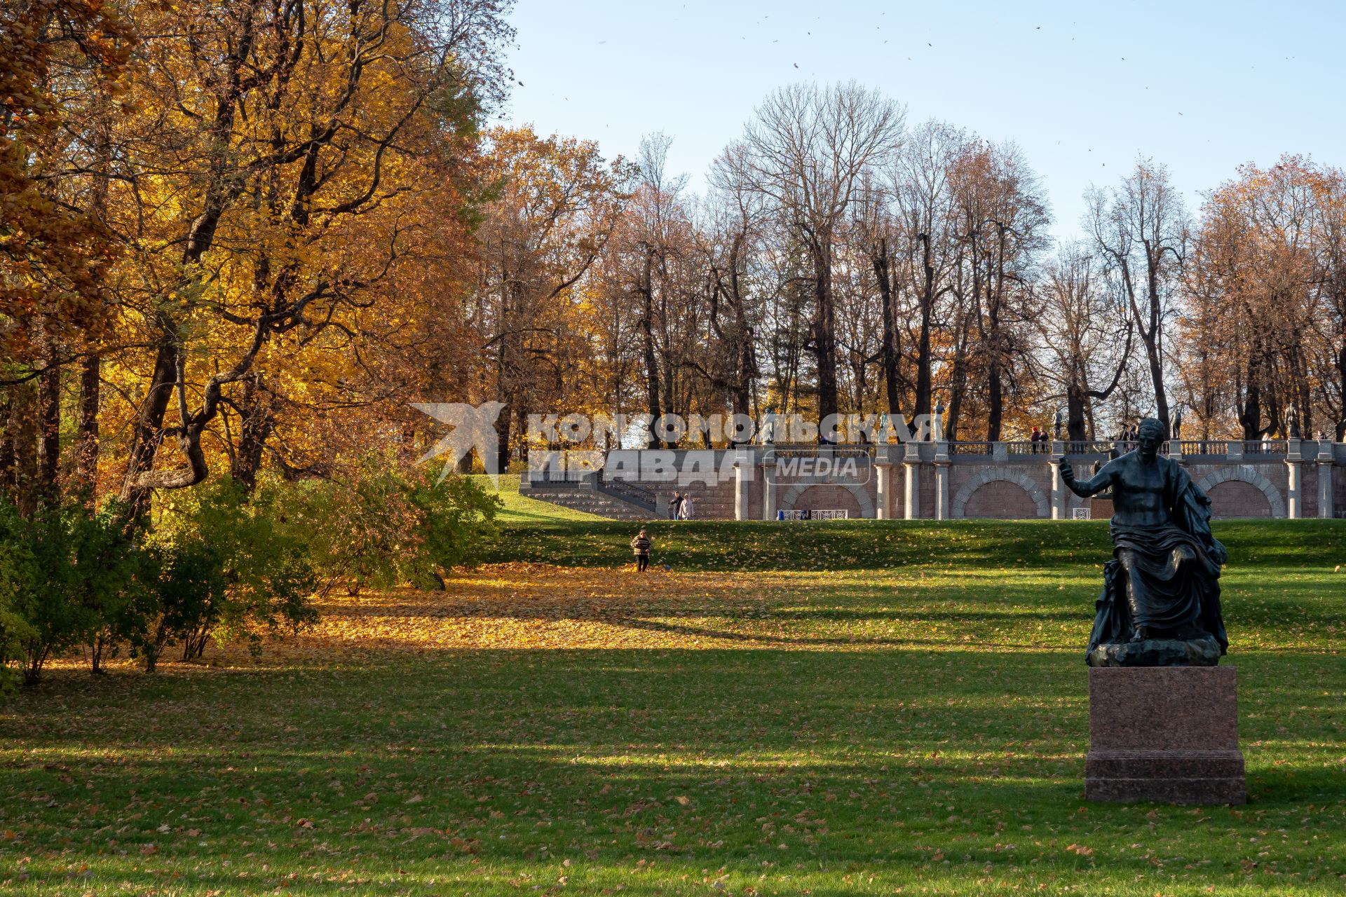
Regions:
<instances>
[{"instance_id":1,"label":"long stone terrace wall with arches, columns and balustrade on top","mask_svg":"<svg viewBox=\"0 0 1346 897\"><path fill-rule=\"evenodd\" d=\"M637 484L660 508L674 491L692 495L697 518L762 520L828 510L880 519L1079 519L1110 516L1112 502L1066 490L1055 459L1069 457L1084 476L1133 448L1057 440L622 449L608 452L604 467L607 479ZM1346 444L1171 440L1162 451L1210 495L1217 518L1346 516ZM594 455L583 453L588 471ZM564 463L552 461L561 472L525 475L521 490L565 476Z\"/></svg>"}]
</instances>

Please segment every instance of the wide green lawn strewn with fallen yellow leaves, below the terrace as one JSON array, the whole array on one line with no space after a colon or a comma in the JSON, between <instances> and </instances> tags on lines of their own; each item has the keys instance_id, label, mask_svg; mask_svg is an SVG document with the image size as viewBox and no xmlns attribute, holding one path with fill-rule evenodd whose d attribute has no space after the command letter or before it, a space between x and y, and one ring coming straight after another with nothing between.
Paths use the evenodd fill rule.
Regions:
<instances>
[{"instance_id":1,"label":"wide green lawn strewn with fallen yellow leaves, below the terrace","mask_svg":"<svg viewBox=\"0 0 1346 897\"><path fill-rule=\"evenodd\" d=\"M1346 892L1346 522L1217 523L1250 803L1198 808L1082 799L1105 524L631 533L58 668L0 703L0 892Z\"/></svg>"}]
</instances>

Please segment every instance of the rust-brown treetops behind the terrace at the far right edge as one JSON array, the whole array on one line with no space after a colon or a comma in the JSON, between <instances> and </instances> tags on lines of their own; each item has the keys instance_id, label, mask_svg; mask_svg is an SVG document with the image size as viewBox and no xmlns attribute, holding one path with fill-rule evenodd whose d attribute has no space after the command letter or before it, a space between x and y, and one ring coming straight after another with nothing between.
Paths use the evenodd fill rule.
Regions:
<instances>
[{"instance_id":1,"label":"rust-brown treetops behind the terrace at the far right edge","mask_svg":"<svg viewBox=\"0 0 1346 897\"><path fill-rule=\"evenodd\" d=\"M1303 430L1339 425L1339 172L1287 156L1244 165L1202 208L1184 342L1221 351L1186 346L1183 378L1232 407L1244 438L1287 434L1291 410Z\"/></svg>"}]
</instances>

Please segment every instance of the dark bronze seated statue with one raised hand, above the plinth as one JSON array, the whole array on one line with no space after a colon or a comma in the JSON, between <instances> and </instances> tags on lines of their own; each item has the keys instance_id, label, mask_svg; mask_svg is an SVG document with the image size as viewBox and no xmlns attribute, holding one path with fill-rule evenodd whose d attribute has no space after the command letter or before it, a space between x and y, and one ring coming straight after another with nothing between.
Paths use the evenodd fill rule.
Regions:
<instances>
[{"instance_id":1,"label":"dark bronze seated statue with one raised hand, above the plinth","mask_svg":"<svg viewBox=\"0 0 1346 897\"><path fill-rule=\"evenodd\" d=\"M1140 422L1139 448L1085 481L1061 459L1081 498L1112 490L1113 558L1085 655L1089 666L1214 666L1229 647L1219 609L1225 546L1210 533L1210 499L1162 457L1163 424Z\"/></svg>"}]
</instances>

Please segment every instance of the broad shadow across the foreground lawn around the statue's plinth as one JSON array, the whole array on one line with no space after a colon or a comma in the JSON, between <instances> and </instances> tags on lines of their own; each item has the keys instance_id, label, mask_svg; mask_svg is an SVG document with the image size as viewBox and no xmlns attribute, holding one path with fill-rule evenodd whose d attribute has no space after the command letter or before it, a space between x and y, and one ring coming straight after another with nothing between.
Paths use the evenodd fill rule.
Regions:
<instances>
[{"instance_id":1,"label":"broad shadow across the foreground lawn around the statue's plinth","mask_svg":"<svg viewBox=\"0 0 1346 897\"><path fill-rule=\"evenodd\" d=\"M355 854L358 893L406 893L413 875L476 874L474 862L497 880L472 893L507 893L502 870L555 881L567 857L575 884L638 892L637 858L662 884L720 866L755 877L762 861L966 881L987 863L1012 875L1046 839L1055 853L1038 873L1090 866L1063 850L1089 843L1100 874L1131 881L1152 866L1128 842L1209 855L1295 824L1306 804L1341 830L1339 659L1237 666L1254 804L1203 808L1207 826L1189 808L1084 803L1074 651L478 650L62 672L0 706L0 827L19 834L0 857L32 855L54 882L90 863L116 881L168 869L178 888L240 893L273 889L285 869L323 873L296 893L335 893L327 877ZM136 862L141 845L153 863ZM233 871L203 862L221 853Z\"/></svg>"}]
</instances>

